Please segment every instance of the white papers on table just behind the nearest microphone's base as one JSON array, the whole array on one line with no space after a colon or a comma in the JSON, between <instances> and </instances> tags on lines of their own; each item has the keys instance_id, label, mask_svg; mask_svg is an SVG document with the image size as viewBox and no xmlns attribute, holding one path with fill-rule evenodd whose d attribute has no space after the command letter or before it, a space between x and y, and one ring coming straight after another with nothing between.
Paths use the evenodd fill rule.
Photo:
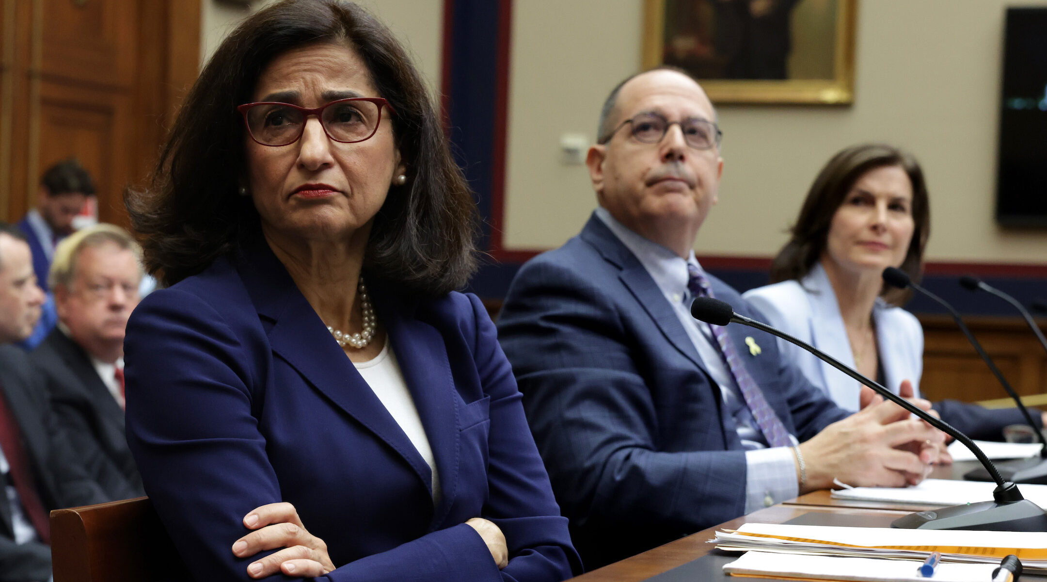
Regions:
<instances>
[{"instance_id":1,"label":"white papers on table just behind the nearest microphone's base","mask_svg":"<svg viewBox=\"0 0 1047 582\"><path fill-rule=\"evenodd\" d=\"M923 479L913 487L854 487L833 491L838 499L862 501L893 501L896 503L926 503L932 506L962 506L978 501L992 501L993 482ZM1047 509L1047 485L1021 485L1022 496Z\"/></svg>"}]
</instances>

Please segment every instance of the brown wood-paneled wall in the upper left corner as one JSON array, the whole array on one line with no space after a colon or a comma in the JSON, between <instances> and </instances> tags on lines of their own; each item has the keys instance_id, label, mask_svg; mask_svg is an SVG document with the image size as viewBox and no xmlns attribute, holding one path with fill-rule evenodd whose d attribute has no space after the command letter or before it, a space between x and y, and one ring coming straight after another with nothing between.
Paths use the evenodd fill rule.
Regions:
<instances>
[{"instance_id":1,"label":"brown wood-paneled wall in the upper left corner","mask_svg":"<svg viewBox=\"0 0 1047 582\"><path fill-rule=\"evenodd\" d=\"M98 218L126 224L196 80L200 0L0 0L0 218L35 204L40 174L74 156Z\"/></svg>"}]
</instances>

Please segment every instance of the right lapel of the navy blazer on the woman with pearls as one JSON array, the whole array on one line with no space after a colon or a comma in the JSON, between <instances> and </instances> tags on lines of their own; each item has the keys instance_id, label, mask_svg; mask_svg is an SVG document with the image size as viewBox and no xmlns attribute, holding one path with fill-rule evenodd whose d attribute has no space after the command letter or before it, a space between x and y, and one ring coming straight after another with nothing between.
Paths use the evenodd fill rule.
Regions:
<instances>
[{"instance_id":1,"label":"right lapel of the navy blazer on the woman with pearls","mask_svg":"<svg viewBox=\"0 0 1047 582\"><path fill-rule=\"evenodd\" d=\"M441 498L431 522L436 525L443 521L454 499L461 427L449 421L458 418L458 403L462 399L454 387L447 346L440 331L413 316L417 306L394 305L387 292L372 295L376 296L375 309L388 332L439 469ZM431 495L430 468L422 462L420 469L425 472L424 480Z\"/></svg>"}]
</instances>

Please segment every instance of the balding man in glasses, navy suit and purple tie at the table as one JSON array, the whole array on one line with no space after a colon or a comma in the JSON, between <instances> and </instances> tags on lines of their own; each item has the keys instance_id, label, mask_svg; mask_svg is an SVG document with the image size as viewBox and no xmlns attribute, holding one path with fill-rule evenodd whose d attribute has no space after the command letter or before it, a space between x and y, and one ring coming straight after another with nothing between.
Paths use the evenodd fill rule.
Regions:
<instances>
[{"instance_id":1,"label":"balding man in glasses, navy suit and purple tie at the table","mask_svg":"<svg viewBox=\"0 0 1047 582\"><path fill-rule=\"evenodd\" d=\"M692 250L720 132L692 79L625 80L586 158L599 207L525 265L498 338L586 567L827 488L918 483L943 436L893 403L848 416L775 338L690 316L712 295L762 317ZM927 403L921 403L925 407Z\"/></svg>"}]
</instances>

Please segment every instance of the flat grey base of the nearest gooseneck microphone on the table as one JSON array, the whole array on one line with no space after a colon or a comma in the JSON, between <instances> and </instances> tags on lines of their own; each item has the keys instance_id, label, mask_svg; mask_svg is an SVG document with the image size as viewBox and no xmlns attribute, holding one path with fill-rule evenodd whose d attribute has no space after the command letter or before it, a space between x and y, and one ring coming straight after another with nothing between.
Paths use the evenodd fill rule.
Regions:
<instances>
[{"instance_id":1,"label":"flat grey base of the nearest gooseneck microphone on the table","mask_svg":"<svg viewBox=\"0 0 1047 582\"><path fill-rule=\"evenodd\" d=\"M904 530L1047 532L1047 513L1028 499L1003 503L980 501L911 513L895 519L891 527Z\"/></svg>"}]
</instances>

